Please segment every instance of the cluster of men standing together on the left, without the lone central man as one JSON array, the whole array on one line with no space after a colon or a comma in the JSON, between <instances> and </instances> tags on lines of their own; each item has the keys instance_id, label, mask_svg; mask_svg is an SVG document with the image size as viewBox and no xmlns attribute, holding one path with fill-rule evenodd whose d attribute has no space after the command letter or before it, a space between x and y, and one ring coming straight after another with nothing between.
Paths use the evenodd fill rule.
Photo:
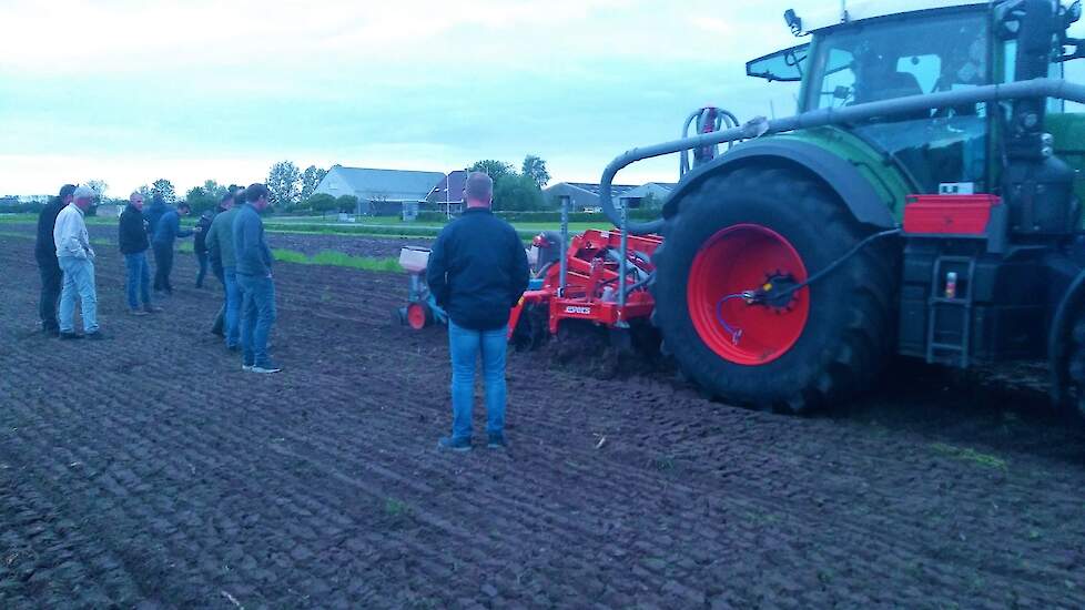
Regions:
<instances>
[{"instance_id":1,"label":"cluster of men standing together on the left, without the lone central man","mask_svg":"<svg viewBox=\"0 0 1085 610\"><path fill-rule=\"evenodd\" d=\"M95 254L84 222L94 196L87 186L65 184L38 216L34 257L41 274L39 317L42 332L61 339L103 338L98 324ZM212 332L223 337L227 349L242 353L244 370L280 372L267 354L267 336L275 321L272 255L260 218L268 205L267 197L267 187L258 183L231 189L214 213L201 216L195 230L185 230L181 216L190 213L187 203L173 207L155 194L152 204L144 207L143 195L132 193L118 225L131 314L162 311L151 301L148 251L154 255L154 292L172 295L174 243L178 237L195 235L200 263L196 286L202 286L209 263L223 286L223 304ZM77 304L82 311L83 334L74 327Z\"/></svg>"}]
</instances>

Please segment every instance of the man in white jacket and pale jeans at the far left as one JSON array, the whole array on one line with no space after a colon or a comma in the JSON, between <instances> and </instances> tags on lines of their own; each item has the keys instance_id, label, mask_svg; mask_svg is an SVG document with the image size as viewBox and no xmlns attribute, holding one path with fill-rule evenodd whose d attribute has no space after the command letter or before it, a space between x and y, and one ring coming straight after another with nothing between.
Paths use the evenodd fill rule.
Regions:
<instances>
[{"instance_id":1,"label":"man in white jacket and pale jeans at the far left","mask_svg":"<svg viewBox=\"0 0 1085 610\"><path fill-rule=\"evenodd\" d=\"M102 338L98 329L98 293L94 289L94 250L90 246L83 214L91 206L94 191L80 186L72 193L72 203L57 215L53 241L57 243L57 261L64 272L64 287L60 295L60 338L77 339L75 299L83 311L83 331L89 339Z\"/></svg>"}]
</instances>

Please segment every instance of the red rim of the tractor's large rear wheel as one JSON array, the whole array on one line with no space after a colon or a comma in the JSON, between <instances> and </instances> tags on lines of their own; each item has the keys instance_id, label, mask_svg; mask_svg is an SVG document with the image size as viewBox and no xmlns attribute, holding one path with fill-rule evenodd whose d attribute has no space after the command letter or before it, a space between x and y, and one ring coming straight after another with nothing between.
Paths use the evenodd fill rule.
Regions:
<instances>
[{"instance_id":1,"label":"red rim of the tractor's large rear wheel","mask_svg":"<svg viewBox=\"0 0 1085 610\"><path fill-rule=\"evenodd\" d=\"M693 258L686 288L690 319L701 340L720 357L750 366L771 363L791 349L807 326L808 288L792 293L784 306L727 298L781 276L804 282L807 267L779 233L737 224L712 235Z\"/></svg>"}]
</instances>

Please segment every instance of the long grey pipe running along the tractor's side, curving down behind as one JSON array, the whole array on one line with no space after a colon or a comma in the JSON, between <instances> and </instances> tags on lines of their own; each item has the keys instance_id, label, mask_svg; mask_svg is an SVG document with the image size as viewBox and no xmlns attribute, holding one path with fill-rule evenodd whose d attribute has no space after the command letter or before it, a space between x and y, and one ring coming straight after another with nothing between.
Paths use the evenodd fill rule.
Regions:
<instances>
[{"instance_id":1,"label":"long grey pipe running along the tractor's side, curving down behind","mask_svg":"<svg viewBox=\"0 0 1085 610\"><path fill-rule=\"evenodd\" d=\"M1072 102L1085 103L1085 85L1067 82L1062 79L1033 79L1006 84L988 84L975 89L960 91L944 91L941 93L926 93L923 95L910 95L895 100L881 102L870 102L846 108L825 108L804 112L795 116L768 121L763 116L757 118L737 128L730 128L716 133L706 133L693 138L683 138L662 144L643 146L626 151L615 157L602 172L599 181L599 203L604 212L615 226L621 227L633 235L645 235L647 233L658 233L662 228L663 220L657 218L649 222L623 222L621 212L615 206L611 196L611 184L615 175L623 167L651 159L682 151L689 151L701 146L712 146L724 142L738 140L749 140L760 138L767 133L781 133L799 129L819 128L824 125L836 125L856 121L865 121L875 116L898 116L912 112L931 110L935 108L947 108L961 104L974 104L980 102L998 102L1003 100L1017 100L1023 98L1054 98L1068 100ZM690 175L697 174L693 170ZM696 180L696 179L694 179Z\"/></svg>"}]
</instances>

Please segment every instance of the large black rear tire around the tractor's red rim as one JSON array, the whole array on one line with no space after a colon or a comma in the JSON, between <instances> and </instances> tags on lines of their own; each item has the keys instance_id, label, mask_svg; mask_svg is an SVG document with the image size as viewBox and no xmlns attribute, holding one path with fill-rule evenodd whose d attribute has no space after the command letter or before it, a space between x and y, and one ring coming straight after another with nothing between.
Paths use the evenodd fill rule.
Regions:
<instances>
[{"instance_id":1,"label":"large black rear tire around the tractor's red rim","mask_svg":"<svg viewBox=\"0 0 1085 610\"><path fill-rule=\"evenodd\" d=\"M723 230L764 227L790 243L809 277L844 256L873 230L860 225L824 185L782 167L742 167L708 177L669 206L672 213L663 228L665 242L653 258L653 322L687 378L731 404L797 414L846 399L878 378L895 336L898 242L875 241L822 279L793 293L793 304L809 299L805 322L797 326L793 344L781 347L770 362L740 364L720 355L719 349L727 348L719 347L718 339L713 349L711 338L702 337L692 321L688 286L702 246L718 243L713 240ZM741 264L756 266L758 261ZM770 273L772 270L765 270ZM693 306L703 308L704 304ZM787 308L772 313L781 315L780 319L793 315Z\"/></svg>"}]
</instances>

